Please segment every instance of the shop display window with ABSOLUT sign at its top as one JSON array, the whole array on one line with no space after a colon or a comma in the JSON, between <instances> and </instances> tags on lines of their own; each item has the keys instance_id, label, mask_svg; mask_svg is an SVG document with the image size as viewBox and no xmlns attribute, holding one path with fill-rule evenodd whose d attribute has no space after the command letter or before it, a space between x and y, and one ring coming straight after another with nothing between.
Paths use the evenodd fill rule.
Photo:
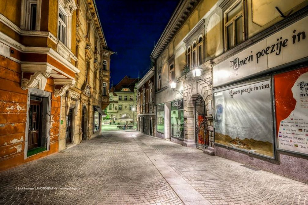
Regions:
<instances>
[{"instance_id":1,"label":"shop display window with ABSOLUT sign at its top","mask_svg":"<svg viewBox=\"0 0 308 205\"><path fill-rule=\"evenodd\" d=\"M171 136L184 139L183 99L171 102Z\"/></svg>"}]
</instances>

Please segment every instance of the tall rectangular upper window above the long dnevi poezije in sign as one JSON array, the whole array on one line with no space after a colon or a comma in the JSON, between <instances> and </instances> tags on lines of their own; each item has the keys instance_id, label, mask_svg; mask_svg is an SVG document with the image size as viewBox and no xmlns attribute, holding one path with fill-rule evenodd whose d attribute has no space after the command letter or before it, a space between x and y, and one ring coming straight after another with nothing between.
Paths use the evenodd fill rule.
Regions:
<instances>
[{"instance_id":1,"label":"tall rectangular upper window above the long dnevi poezije in sign","mask_svg":"<svg viewBox=\"0 0 308 205\"><path fill-rule=\"evenodd\" d=\"M243 2L238 1L224 13L225 50L231 49L245 40Z\"/></svg>"}]
</instances>

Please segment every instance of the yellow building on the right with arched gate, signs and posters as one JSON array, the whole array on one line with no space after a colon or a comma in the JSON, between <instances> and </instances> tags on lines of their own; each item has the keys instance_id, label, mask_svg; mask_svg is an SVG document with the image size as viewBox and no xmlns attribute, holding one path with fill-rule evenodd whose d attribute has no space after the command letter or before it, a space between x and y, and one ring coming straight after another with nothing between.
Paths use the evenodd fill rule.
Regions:
<instances>
[{"instance_id":1,"label":"yellow building on the right with arched gate, signs and posters","mask_svg":"<svg viewBox=\"0 0 308 205\"><path fill-rule=\"evenodd\" d=\"M156 136L307 182L307 4L181 1L151 54Z\"/></svg>"}]
</instances>

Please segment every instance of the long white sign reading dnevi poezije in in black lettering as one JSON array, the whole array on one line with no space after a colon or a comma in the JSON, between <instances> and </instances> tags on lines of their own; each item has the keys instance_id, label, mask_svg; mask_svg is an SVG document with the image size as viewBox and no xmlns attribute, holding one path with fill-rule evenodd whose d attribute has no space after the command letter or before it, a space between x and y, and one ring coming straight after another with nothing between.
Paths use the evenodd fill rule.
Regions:
<instances>
[{"instance_id":1,"label":"long white sign reading dnevi poezije in in black lettering","mask_svg":"<svg viewBox=\"0 0 308 205\"><path fill-rule=\"evenodd\" d=\"M213 67L213 85L236 81L308 56L308 17Z\"/></svg>"}]
</instances>

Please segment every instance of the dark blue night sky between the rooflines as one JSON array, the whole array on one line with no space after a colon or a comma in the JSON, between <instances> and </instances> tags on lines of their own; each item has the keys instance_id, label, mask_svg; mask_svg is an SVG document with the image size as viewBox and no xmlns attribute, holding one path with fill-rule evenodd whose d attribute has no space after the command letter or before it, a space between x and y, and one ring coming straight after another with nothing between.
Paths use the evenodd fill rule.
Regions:
<instances>
[{"instance_id":1,"label":"dark blue night sky between the rooflines","mask_svg":"<svg viewBox=\"0 0 308 205\"><path fill-rule=\"evenodd\" d=\"M111 56L115 86L125 75L138 77L150 65L150 54L179 0L96 0ZM143 75L147 73L145 71Z\"/></svg>"}]
</instances>

